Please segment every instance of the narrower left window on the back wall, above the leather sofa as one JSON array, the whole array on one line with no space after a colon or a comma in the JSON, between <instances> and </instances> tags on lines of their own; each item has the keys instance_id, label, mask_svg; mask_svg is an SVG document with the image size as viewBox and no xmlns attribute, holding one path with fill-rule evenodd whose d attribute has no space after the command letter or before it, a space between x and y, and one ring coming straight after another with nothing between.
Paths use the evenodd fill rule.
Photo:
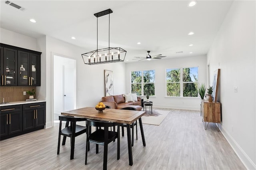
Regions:
<instances>
[{"instance_id":1,"label":"narrower left window on the back wall, above the leather sofa","mask_svg":"<svg viewBox=\"0 0 256 170\"><path fill-rule=\"evenodd\" d=\"M155 71L131 71L132 93L137 95L155 95Z\"/></svg>"}]
</instances>

